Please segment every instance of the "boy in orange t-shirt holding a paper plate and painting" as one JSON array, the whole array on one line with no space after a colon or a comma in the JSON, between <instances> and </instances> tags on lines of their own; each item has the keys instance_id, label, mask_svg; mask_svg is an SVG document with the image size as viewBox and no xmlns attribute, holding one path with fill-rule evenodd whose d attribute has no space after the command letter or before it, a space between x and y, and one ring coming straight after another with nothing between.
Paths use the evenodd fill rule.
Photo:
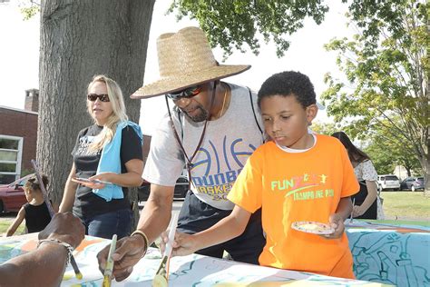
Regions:
<instances>
[{"instance_id":1,"label":"boy in orange t-shirt holding a paper plate and painting","mask_svg":"<svg viewBox=\"0 0 430 287\"><path fill-rule=\"evenodd\" d=\"M359 185L337 139L309 134L318 113L314 87L298 72L273 74L259 90L259 108L270 141L249 157L228 198L230 216L200 233L176 233L173 255L186 255L239 236L262 208L267 242L260 265L355 278L344 221ZM292 229L295 222L329 223L333 233ZM163 242L167 238L163 235Z\"/></svg>"}]
</instances>

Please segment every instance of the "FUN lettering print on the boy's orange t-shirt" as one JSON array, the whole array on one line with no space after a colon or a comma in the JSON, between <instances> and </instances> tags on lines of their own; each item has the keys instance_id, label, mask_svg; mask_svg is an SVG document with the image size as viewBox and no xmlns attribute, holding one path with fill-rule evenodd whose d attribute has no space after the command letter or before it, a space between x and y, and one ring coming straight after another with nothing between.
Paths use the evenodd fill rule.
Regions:
<instances>
[{"instance_id":1,"label":"FUN lettering print on the boy's orange t-shirt","mask_svg":"<svg viewBox=\"0 0 430 287\"><path fill-rule=\"evenodd\" d=\"M292 196L294 201L308 201L318 198L333 197L335 191L330 186L326 174L303 173L291 178L270 181L270 189L273 192L285 193Z\"/></svg>"}]
</instances>

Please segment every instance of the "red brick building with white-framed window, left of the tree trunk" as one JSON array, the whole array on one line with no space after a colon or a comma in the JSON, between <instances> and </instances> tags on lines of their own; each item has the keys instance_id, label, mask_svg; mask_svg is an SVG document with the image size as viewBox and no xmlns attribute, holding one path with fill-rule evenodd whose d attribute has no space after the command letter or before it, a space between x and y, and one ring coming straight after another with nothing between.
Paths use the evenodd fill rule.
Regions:
<instances>
[{"instance_id":1,"label":"red brick building with white-framed window, left of the tree trunk","mask_svg":"<svg viewBox=\"0 0 430 287\"><path fill-rule=\"evenodd\" d=\"M33 170L37 143L39 91L25 91L25 109L0 105L0 184Z\"/></svg>"}]
</instances>

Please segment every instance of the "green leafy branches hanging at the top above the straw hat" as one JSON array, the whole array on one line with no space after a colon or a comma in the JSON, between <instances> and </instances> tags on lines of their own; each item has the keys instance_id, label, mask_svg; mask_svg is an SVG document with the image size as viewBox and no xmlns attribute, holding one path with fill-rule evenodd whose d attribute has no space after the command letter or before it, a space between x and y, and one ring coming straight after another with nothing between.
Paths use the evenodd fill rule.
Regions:
<instances>
[{"instance_id":1,"label":"green leafy branches hanging at the top above the straw hat","mask_svg":"<svg viewBox=\"0 0 430 287\"><path fill-rule=\"evenodd\" d=\"M288 35L302 28L306 17L321 24L328 6L320 0L173 0L170 12L173 11L178 19L197 19L210 43L220 45L226 54L233 49L244 52L245 44L259 54L261 35L266 43L272 40L277 45L277 54L281 56L288 50Z\"/></svg>"}]
</instances>

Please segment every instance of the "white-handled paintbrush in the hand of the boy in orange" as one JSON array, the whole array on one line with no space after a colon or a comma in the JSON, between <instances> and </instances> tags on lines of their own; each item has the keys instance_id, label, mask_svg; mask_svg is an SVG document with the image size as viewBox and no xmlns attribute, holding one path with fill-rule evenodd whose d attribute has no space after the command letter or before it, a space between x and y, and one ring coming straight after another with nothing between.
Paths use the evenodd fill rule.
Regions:
<instances>
[{"instance_id":1,"label":"white-handled paintbrush in the hand of the boy in orange","mask_svg":"<svg viewBox=\"0 0 430 287\"><path fill-rule=\"evenodd\" d=\"M171 243L175 239L176 225L178 224L178 214L175 213L171 218L171 230L169 231L169 239L166 243L166 249L162 256L160 267L155 273L155 277L152 280L153 287L167 287L169 281L169 261L171 258Z\"/></svg>"}]
</instances>

